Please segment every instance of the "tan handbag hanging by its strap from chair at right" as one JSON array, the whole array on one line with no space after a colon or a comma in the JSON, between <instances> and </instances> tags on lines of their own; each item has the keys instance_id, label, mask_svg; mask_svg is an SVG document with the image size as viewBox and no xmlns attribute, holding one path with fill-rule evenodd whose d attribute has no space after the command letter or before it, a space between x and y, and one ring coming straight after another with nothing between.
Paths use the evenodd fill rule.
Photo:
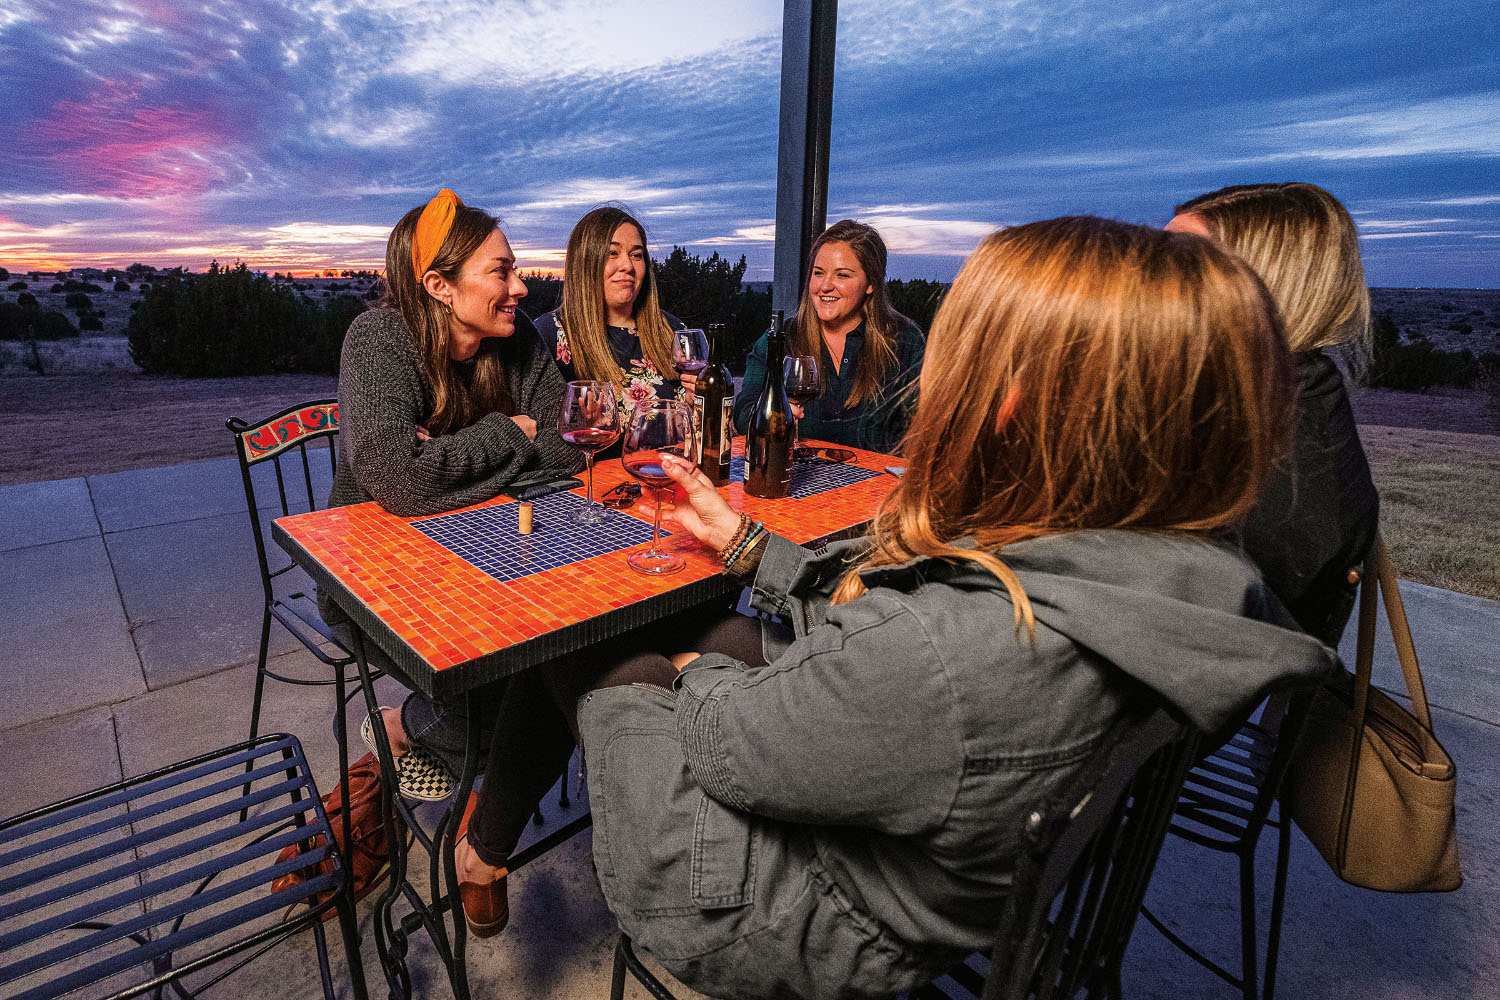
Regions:
<instances>
[{"instance_id":1,"label":"tan handbag hanging by its strap from chair at right","mask_svg":"<svg viewBox=\"0 0 1500 1000\"><path fill-rule=\"evenodd\" d=\"M1382 589L1410 712L1370 685ZM1282 805L1344 882L1388 892L1450 892L1464 882L1456 787L1454 759L1432 735L1406 606L1377 534L1359 589L1354 675L1342 673L1314 696Z\"/></svg>"}]
</instances>

